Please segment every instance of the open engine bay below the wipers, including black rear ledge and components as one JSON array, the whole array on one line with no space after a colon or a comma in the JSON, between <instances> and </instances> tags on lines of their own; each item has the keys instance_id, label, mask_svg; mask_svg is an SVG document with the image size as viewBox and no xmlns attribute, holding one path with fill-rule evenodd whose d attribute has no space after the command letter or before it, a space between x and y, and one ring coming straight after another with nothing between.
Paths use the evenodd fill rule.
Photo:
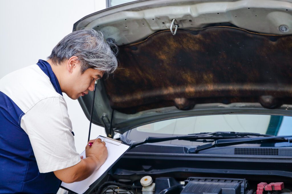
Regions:
<instances>
[{"instance_id":1,"label":"open engine bay below the wipers, including black rear ledge and components","mask_svg":"<svg viewBox=\"0 0 292 194\"><path fill-rule=\"evenodd\" d=\"M213 156L129 150L87 193L291 194L288 156ZM135 151L135 152L134 152Z\"/></svg>"}]
</instances>

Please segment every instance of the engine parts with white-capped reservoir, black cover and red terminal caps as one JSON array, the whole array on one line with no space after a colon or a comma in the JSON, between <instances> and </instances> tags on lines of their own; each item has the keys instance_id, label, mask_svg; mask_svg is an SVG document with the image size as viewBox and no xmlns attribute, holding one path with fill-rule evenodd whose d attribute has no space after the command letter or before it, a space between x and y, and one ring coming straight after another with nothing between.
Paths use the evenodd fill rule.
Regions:
<instances>
[{"instance_id":1,"label":"engine parts with white-capped reservoir, black cover and red terminal caps","mask_svg":"<svg viewBox=\"0 0 292 194\"><path fill-rule=\"evenodd\" d=\"M154 183L155 181L155 183ZM258 183L251 189L246 179L189 177L177 181L172 177L157 177L152 181L150 176L142 177L139 182L129 184L127 180L108 181L102 184L96 193L125 194L291 194L284 188L283 182Z\"/></svg>"}]
</instances>

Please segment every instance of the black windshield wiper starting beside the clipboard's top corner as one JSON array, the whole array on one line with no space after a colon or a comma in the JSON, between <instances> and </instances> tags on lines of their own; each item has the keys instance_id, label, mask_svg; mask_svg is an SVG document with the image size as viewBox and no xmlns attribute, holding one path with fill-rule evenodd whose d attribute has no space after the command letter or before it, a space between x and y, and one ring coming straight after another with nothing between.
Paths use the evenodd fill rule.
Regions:
<instances>
[{"instance_id":1,"label":"black windshield wiper starting beside the clipboard's top corner","mask_svg":"<svg viewBox=\"0 0 292 194\"><path fill-rule=\"evenodd\" d=\"M244 137L249 137L249 136L270 137L271 135L258 134L258 133L246 133L246 132L216 131L212 133L197 133L197 134L189 134L189 135L183 135L183 136L147 137L145 140L137 141L133 143L132 147L136 147L138 145L142 145L145 143L158 143L158 142L170 141L170 140L176 140L176 139L196 141L198 139L220 140L220 139L231 139L231 138L244 138Z\"/></svg>"}]
</instances>

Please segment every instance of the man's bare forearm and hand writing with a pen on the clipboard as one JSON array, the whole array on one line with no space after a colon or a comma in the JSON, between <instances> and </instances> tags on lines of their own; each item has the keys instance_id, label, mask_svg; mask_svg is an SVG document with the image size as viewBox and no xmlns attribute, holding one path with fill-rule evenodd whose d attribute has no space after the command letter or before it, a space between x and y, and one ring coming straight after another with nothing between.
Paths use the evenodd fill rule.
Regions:
<instances>
[{"instance_id":1,"label":"man's bare forearm and hand writing with a pen on the clipboard","mask_svg":"<svg viewBox=\"0 0 292 194\"><path fill-rule=\"evenodd\" d=\"M93 143L90 147L88 143ZM90 140L85 147L86 158L71 167L54 171L55 176L65 183L73 183L88 178L107 159L107 147L101 139Z\"/></svg>"}]
</instances>

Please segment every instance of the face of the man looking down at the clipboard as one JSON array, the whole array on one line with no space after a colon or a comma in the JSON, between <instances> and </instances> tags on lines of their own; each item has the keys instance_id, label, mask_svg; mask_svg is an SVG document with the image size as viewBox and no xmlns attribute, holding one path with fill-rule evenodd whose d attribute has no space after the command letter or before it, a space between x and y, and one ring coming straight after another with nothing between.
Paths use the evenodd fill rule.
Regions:
<instances>
[{"instance_id":1,"label":"face of the man looking down at the clipboard","mask_svg":"<svg viewBox=\"0 0 292 194\"><path fill-rule=\"evenodd\" d=\"M77 64L69 78L69 88L66 94L72 98L77 99L80 96L88 94L88 91L94 90L94 83L96 79L101 79L104 72L95 69L87 69L83 74L80 71L80 64Z\"/></svg>"}]
</instances>

